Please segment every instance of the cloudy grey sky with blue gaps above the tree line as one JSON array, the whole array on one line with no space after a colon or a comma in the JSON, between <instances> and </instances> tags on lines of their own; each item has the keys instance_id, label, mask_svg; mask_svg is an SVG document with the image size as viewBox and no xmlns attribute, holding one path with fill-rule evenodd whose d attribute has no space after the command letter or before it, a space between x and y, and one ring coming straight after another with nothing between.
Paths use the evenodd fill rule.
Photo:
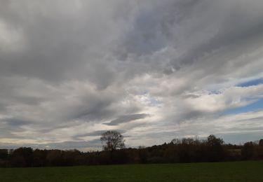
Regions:
<instances>
[{"instance_id":1,"label":"cloudy grey sky with blue gaps above the tree line","mask_svg":"<svg viewBox=\"0 0 263 182\"><path fill-rule=\"evenodd\" d=\"M0 148L263 138L262 0L1 0Z\"/></svg>"}]
</instances>

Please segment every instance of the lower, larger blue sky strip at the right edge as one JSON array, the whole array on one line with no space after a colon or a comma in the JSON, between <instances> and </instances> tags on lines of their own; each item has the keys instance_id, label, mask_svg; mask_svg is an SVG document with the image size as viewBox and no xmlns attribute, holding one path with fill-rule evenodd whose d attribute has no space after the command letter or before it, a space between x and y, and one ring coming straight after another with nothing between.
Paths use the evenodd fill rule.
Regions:
<instances>
[{"instance_id":1,"label":"lower, larger blue sky strip at the right edge","mask_svg":"<svg viewBox=\"0 0 263 182\"><path fill-rule=\"evenodd\" d=\"M224 111L222 115L247 113L250 111L260 111L262 109L263 109L263 98L258 99L256 102L253 102L252 104L248 104L247 106L242 106L242 107L238 107L234 109L228 109L227 111Z\"/></svg>"}]
</instances>

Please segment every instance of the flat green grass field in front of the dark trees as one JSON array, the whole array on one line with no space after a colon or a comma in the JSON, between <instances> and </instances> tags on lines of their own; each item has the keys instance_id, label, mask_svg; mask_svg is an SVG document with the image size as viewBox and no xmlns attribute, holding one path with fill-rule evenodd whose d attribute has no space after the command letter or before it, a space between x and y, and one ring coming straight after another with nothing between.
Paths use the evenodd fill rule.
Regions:
<instances>
[{"instance_id":1,"label":"flat green grass field in front of the dark trees","mask_svg":"<svg viewBox=\"0 0 263 182\"><path fill-rule=\"evenodd\" d=\"M263 181L263 161L2 168L0 181Z\"/></svg>"}]
</instances>

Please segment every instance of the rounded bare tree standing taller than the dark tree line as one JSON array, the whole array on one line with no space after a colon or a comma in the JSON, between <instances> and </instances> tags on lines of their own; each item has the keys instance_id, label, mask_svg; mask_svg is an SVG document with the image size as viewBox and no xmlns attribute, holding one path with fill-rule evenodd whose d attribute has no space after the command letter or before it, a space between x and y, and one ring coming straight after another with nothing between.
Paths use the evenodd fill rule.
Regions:
<instances>
[{"instance_id":1,"label":"rounded bare tree standing taller than the dark tree line","mask_svg":"<svg viewBox=\"0 0 263 182\"><path fill-rule=\"evenodd\" d=\"M107 131L100 137L104 151L114 151L116 148L125 148L123 136L116 131Z\"/></svg>"}]
</instances>

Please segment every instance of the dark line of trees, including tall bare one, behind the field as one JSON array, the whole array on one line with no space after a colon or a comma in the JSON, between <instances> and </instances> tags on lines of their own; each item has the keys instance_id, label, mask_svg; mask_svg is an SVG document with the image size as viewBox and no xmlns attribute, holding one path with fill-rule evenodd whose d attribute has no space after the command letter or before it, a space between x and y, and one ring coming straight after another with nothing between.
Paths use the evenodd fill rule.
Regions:
<instances>
[{"instance_id":1,"label":"dark line of trees, including tall bare one, behind the field","mask_svg":"<svg viewBox=\"0 0 263 182\"><path fill-rule=\"evenodd\" d=\"M0 149L0 167L53 167L74 165L148 164L263 160L263 139L243 145L207 139L173 139L168 144L125 148L118 132L102 134L103 151L40 150L28 147Z\"/></svg>"}]
</instances>

